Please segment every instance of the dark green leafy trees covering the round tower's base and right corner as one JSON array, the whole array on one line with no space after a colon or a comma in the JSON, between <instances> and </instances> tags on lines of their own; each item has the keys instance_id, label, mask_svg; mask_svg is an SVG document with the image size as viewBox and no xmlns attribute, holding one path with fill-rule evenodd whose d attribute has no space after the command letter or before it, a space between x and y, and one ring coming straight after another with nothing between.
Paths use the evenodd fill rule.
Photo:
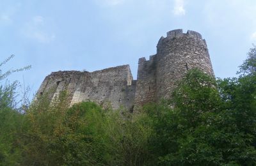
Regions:
<instances>
[{"instance_id":1,"label":"dark green leafy trees covering the round tower's base and right corner","mask_svg":"<svg viewBox=\"0 0 256 166\"><path fill-rule=\"evenodd\" d=\"M191 70L166 103L147 107L159 165L255 165L255 76L218 80ZM218 91L220 93L218 93Z\"/></svg>"}]
</instances>

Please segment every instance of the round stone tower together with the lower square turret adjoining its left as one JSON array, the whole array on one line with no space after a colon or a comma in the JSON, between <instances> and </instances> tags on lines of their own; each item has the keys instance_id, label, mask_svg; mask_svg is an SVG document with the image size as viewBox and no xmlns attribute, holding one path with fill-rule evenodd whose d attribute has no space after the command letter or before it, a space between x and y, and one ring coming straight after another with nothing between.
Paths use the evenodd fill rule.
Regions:
<instances>
[{"instance_id":1,"label":"round stone tower together with the lower square turret adjoining its left","mask_svg":"<svg viewBox=\"0 0 256 166\"><path fill-rule=\"evenodd\" d=\"M195 31L169 31L157 43L157 54L139 59L135 106L170 98L186 72L198 68L212 75L212 64L205 40Z\"/></svg>"}]
</instances>

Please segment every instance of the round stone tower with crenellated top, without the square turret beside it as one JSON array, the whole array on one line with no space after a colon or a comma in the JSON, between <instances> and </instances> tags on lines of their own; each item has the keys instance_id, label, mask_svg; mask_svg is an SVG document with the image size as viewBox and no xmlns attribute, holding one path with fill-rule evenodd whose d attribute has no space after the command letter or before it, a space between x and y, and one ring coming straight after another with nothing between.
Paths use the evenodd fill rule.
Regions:
<instances>
[{"instance_id":1,"label":"round stone tower with crenellated top, without the square turret beside it","mask_svg":"<svg viewBox=\"0 0 256 166\"><path fill-rule=\"evenodd\" d=\"M214 77L206 42L195 31L169 31L166 38L160 38L156 57L157 100L170 98L177 82L191 68L198 68Z\"/></svg>"}]
</instances>

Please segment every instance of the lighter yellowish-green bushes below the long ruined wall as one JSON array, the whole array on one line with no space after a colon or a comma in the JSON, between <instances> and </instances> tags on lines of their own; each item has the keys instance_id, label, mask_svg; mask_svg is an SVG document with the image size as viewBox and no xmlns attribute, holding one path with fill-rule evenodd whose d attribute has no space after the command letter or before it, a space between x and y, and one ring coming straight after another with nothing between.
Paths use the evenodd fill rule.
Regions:
<instances>
[{"instance_id":1,"label":"lighter yellowish-green bushes below the long ruined wall","mask_svg":"<svg viewBox=\"0 0 256 166\"><path fill-rule=\"evenodd\" d=\"M47 96L47 95L46 95ZM104 110L93 102L68 108L63 91L51 103L40 96L26 112L22 165L143 165L150 130L145 116Z\"/></svg>"}]
</instances>

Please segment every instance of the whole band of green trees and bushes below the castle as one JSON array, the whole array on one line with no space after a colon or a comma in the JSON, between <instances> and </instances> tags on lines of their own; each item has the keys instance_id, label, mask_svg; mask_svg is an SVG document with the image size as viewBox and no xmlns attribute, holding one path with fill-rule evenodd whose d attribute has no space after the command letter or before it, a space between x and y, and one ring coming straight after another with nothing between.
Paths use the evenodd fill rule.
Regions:
<instances>
[{"instance_id":1,"label":"whole band of green trees and bushes below the castle","mask_svg":"<svg viewBox=\"0 0 256 166\"><path fill-rule=\"evenodd\" d=\"M20 111L17 84L5 84L0 165L256 165L255 46L237 74L190 70L171 100L134 115L93 102L68 107L65 91Z\"/></svg>"}]
</instances>

